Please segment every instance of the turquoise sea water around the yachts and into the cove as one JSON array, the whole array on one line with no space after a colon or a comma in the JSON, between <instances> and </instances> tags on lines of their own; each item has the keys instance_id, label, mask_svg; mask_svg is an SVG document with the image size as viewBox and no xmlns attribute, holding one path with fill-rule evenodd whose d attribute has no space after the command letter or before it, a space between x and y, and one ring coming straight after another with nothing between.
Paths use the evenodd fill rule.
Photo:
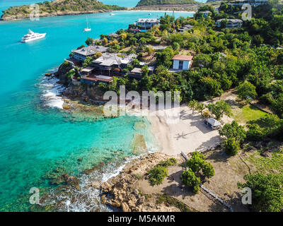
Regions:
<instances>
[{"instance_id":1,"label":"turquoise sea water around the yachts and into the cove","mask_svg":"<svg viewBox=\"0 0 283 226\"><path fill-rule=\"evenodd\" d=\"M151 17L161 13L152 13ZM175 16L191 16L175 13ZM120 117L91 122L76 120L62 110L45 107L42 94L48 88L44 73L55 69L71 49L87 37L127 28L146 12L100 13L88 16L92 32L83 33L86 16L40 18L0 22L0 210L28 210L31 187L50 186L46 172L64 167L69 174L98 162L132 155L130 145L137 121L144 121L149 147L156 145L143 118ZM47 32L47 37L32 43L19 42L28 32ZM116 150L121 150L118 156ZM78 159L82 158L82 162Z\"/></svg>"}]
</instances>

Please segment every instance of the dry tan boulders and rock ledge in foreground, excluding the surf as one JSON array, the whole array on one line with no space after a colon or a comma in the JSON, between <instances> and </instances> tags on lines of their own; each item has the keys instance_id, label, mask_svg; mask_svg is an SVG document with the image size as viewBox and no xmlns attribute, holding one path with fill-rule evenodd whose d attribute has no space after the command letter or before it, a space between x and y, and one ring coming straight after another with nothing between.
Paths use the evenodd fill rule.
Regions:
<instances>
[{"instance_id":1,"label":"dry tan boulders and rock ledge in foreground, excluding the surf","mask_svg":"<svg viewBox=\"0 0 283 226\"><path fill-rule=\"evenodd\" d=\"M163 153L143 155L127 163L117 177L109 179L108 182L93 182L90 186L100 189L103 203L124 212L180 211L180 208L168 203L158 203L160 194L142 194L137 189L139 179L144 179L149 169L168 157Z\"/></svg>"}]
</instances>

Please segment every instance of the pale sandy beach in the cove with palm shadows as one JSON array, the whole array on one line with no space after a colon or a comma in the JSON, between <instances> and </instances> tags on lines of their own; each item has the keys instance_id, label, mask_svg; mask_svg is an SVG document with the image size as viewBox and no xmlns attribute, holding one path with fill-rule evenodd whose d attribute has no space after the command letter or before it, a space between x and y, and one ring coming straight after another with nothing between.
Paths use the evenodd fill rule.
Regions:
<instances>
[{"instance_id":1,"label":"pale sandy beach in the cove with palm shadows","mask_svg":"<svg viewBox=\"0 0 283 226\"><path fill-rule=\"evenodd\" d=\"M148 119L160 143L160 151L167 155L207 150L221 141L218 131L207 128L200 114L192 114L187 106L180 107L180 120L176 123L168 123L166 116L154 115Z\"/></svg>"}]
</instances>

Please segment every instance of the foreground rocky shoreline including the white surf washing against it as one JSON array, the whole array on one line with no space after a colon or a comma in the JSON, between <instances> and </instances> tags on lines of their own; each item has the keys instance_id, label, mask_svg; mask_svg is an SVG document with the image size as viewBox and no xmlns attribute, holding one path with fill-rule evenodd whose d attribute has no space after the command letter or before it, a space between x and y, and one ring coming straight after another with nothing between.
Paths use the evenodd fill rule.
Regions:
<instances>
[{"instance_id":1,"label":"foreground rocky shoreline including the white surf washing against it","mask_svg":"<svg viewBox=\"0 0 283 226\"><path fill-rule=\"evenodd\" d=\"M69 174L60 174L59 169L50 174L53 183L60 183L57 189L40 199L40 206L33 206L32 211L69 211L69 206L80 201L86 203L90 211L122 211L122 212L191 212L195 208L179 201L165 193L144 194L139 189L140 183L147 180L146 172L157 165L161 160L167 160L168 155L163 153L147 153L140 155L126 163L122 171L115 177L101 182L89 179L88 184L80 184L80 179ZM183 162L180 156L178 162ZM100 171L102 165L86 169L83 174L91 176ZM57 176L54 176L58 174ZM151 186L150 184L148 186ZM96 194L91 200L86 191ZM63 197L63 198L62 198Z\"/></svg>"}]
</instances>

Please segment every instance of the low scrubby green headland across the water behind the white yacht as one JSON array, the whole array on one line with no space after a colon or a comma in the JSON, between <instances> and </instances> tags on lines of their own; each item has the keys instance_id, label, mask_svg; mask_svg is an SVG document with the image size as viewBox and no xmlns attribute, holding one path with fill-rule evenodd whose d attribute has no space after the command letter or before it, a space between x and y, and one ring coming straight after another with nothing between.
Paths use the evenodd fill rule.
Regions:
<instances>
[{"instance_id":1,"label":"low scrubby green headland across the water behind the white yacht","mask_svg":"<svg viewBox=\"0 0 283 226\"><path fill-rule=\"evenodd\" d=\"M125 7L120 6L110 6L105 5L97 0L55 0L55 1L45 1L42 3L37 3L40 7L40 15L46 13L68 13L68 12L87 12L87 11L99 11L99 10L124 10ZM8 17L29 17L30 6L11 6L3 12L1 18Z\"/></svg>"}]
</instances>

